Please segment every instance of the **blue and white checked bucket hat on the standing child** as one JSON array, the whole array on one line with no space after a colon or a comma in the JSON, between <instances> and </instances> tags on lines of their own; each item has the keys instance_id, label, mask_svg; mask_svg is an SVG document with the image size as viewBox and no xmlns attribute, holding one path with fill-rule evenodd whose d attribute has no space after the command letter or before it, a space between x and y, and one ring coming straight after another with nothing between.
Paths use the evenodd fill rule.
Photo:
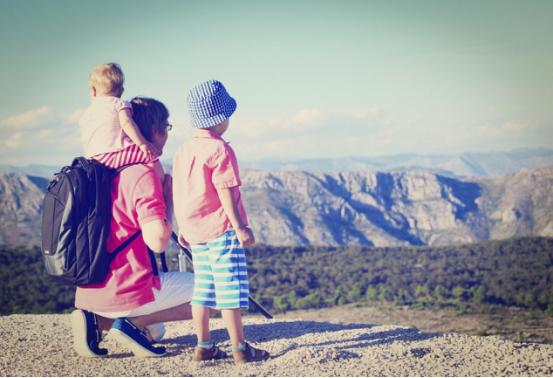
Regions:
<instances>
[{"instance_id":1,"label":"blue and white checked bucket hat on the standing child","mask_svg":"<svg viewBox=\"0 0 553 378\"><path fill-rule=\"evenodd\" d=\"M192 126L206 129L229 118L236 110L236 101L230 97L223 83L209 80L190 90L188 110Z\"/></svg>"}]
</instances>

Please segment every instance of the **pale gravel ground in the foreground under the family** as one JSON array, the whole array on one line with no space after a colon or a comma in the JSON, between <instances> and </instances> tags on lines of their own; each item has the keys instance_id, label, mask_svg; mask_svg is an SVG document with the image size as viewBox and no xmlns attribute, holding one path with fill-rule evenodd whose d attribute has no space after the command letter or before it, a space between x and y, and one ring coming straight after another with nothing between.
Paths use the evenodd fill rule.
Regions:
<instances>
[{"instance_id":1,"label":"pale gravel ground in the foreground under the family","mask_svg":"<svg viewBox=\"0 0 553 378\"><path fill-rule=\"evenodd\" d=\"M495 336L421 332L415 328L328 321L245 317L246 336L268 350L266 362L191 363L190 322L170 323L162 342L168 355L134 358L110 336L109 357L87 359L72 349L69 315L0 317L3 376L551 376L553 345ZM230 349L220 319L213 338Z\"/></svg>"}]
</instances>

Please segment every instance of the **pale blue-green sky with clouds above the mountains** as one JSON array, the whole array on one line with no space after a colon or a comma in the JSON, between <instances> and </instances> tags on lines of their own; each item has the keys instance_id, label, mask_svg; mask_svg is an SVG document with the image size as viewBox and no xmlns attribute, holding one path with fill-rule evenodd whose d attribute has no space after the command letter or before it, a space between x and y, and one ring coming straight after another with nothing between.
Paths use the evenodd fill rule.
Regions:
<instances>
[{"instance_id":1,"label":"pale blue-green sky with clouds above the mountains","mask_svg":"<svg viewBox=\"0 0 553 378\"><path fill-rule=\"evenodd\" d=\"M241 160L551 147L552 1L0 0L0 164L81 154L87 77L121 64L190 135L186 93L238 101Z\"/></svg>"}]
</instances>

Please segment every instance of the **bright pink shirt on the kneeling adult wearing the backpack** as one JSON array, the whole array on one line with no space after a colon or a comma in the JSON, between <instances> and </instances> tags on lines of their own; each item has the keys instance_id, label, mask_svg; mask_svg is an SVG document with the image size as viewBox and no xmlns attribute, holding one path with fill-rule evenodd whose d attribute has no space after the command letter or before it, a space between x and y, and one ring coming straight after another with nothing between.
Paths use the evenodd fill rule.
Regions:
<instances>
[{"instance_id":1,"label":"bright pink shirt on the kneeling adult wearing the backpack","mask_svg":"<svg viewBox=\"0 0 553 378\"><path fill-rule=\"evenodd\" d=\"M138 164L115 177L111 187L112 220L106 248L113 251L141 227L165 219L161 182L153 168ZM140 234L112 261L101 284L77 287L75 307L99 312L118 312L140 307L154 300L160 289L152 273L148 247Z\"/></svg>"}]
</instances>

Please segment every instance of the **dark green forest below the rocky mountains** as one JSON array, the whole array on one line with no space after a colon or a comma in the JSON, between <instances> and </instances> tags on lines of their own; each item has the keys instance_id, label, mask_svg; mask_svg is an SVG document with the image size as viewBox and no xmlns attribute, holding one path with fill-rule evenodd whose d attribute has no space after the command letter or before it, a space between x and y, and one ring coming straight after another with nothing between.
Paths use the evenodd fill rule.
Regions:
<instances>
[{"instance_id":1,"label":"dark green forest below the rocky mountains","mask_svg":"<svg viewBox=\"0 0 553 378\"><path fill-rule=\"evenodd\" d=\"M176 269L175 250L168 252ZM271 247L248 250L252 295L273 312L386 301L485 311L517 306L553 315L553 239L450 247ZM37 247L0 246L0 314L71 310L74 288L44 272Z\"/></svg>"}]
</instances>

